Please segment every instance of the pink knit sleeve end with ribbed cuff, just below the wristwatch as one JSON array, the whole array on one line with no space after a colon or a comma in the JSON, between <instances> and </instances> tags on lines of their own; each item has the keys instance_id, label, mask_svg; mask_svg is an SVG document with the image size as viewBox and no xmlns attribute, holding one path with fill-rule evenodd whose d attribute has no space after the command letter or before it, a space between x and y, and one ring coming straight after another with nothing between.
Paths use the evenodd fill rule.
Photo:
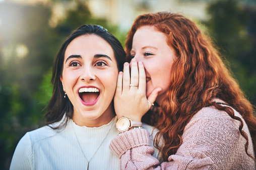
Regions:
<instances>
[{"instance_id":1,"label":"pink knit sleeve end with ribbed cuff, just below the wristwatch","mask_svg":"<svg viewBox=\"0 0 256 170\"><path fill-rule=\"evenodd\" d=\"M154 148L150 146L149 132L146 129L134 129L115 137L110 150L120 158L121 169L147 169L159 164L152 156Z\"/></svg>"}]
</instances>

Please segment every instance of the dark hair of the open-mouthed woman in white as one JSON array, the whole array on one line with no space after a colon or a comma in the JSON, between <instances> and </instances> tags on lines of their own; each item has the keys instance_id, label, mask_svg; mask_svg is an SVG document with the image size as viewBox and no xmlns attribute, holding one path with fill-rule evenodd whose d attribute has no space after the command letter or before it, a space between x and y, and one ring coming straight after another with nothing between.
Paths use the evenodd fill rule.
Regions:
<instances>
[{"instance_id":1,"label":"dark hair of the open-mouthed woman in white","mask_svg":"<svg viewBox=\"0 0 256 170\"><path fill-rule=\"evenodd\" d=\"M62 121L62 124L58 125L57 127L50 126L53 129L60 129L66 126L68 118L73 118L73 105L68 97L64 98L65 92L63 91L60 76L62 75L64 57L68 45L75 38L83 35L96 35L104 39L113 49L118 71L123 70L123 63L125 61L126 54L121 43L117 40L115 36L113 36L106 29L98 25L83 25L77 30L73 31L69 35L69 37L67 37L67 39L63 42L57 55L55 56L51 78L51 83L53 84L53 92L47 106L47 112L44 116L45 121L42 123L41 126L50 125L52 123L58 122L63 118L63 116L65 116L66 121Z\"/></svg>"}]
</instances>

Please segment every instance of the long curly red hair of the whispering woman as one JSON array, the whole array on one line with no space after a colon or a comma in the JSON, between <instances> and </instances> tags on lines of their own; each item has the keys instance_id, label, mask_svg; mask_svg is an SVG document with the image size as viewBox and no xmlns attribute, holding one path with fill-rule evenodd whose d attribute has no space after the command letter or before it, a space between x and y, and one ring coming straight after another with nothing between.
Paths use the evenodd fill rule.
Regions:
<instances>
[{"instance_id":1,"label":"long curly red hair of the whispering woman","mask_svg":"<svg viewBox=\"0 0 256 170\"><path fill-rule=\"evenodd\" d=\"M239 131L247 141L245 151L254 159L247 152L248 137L242 130L242 120L234 116L230 107L213 102L214 98L219 98L242 115L249 128L255 153L256 118L253 116L253 107L224 65L211 39L193 21L180 14L162 12L141 15L127 35L127 61L131 60L134 34L141 26L154 26L166 34L167 44L175 50L177 56L171 68L170 86L159 114L157 118L150 118L153 120L151 124L160 130L156 135L155 145L160 148L160 137L165 140L165 145L160 148L163 159L167 161L169 155L176 153L182 143L181 136L186 124L199 110L209 105L226 111L232 118L241 122Z\"/></svg>"}]
</instances>

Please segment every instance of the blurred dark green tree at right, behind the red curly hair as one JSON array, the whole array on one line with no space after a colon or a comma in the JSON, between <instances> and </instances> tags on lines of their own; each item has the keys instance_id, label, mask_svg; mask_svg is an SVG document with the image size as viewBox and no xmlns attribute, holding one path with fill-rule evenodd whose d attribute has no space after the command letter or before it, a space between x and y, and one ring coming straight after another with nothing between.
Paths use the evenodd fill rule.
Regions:
<instances>
[{"instance_id":1,"label":"blurred dark green tree at right, behind the red curly hair","mask_svg":"<svg viewBox=\"0 0 256 170\"><path fill-rule=\"evenodd\" d=\"M221 54L230 63L234 77L256 104L256 10L237 0L218 0L208 7L207 26Z\"/></svg>"}]
</instances>

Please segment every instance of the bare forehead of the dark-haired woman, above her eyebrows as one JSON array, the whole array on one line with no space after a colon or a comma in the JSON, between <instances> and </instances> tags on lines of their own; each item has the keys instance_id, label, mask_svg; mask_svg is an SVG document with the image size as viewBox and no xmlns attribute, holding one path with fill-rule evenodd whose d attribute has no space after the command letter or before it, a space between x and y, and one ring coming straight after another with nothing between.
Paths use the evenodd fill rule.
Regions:
<instances>
[{"instance_id":1,"label":"bare forehead of the dark-haired woman, above her eyebrows","mask_svg":"<svg viewBox=\"0 0 256 170\"><path fill-rule=\"evenodd\" d=\"M115 60L112 47L106 40L97 35L82 35L72 40L65 51L65 58L70 55L83 57L95 54L105 54Z\"/></svg>"}]
</instances>

